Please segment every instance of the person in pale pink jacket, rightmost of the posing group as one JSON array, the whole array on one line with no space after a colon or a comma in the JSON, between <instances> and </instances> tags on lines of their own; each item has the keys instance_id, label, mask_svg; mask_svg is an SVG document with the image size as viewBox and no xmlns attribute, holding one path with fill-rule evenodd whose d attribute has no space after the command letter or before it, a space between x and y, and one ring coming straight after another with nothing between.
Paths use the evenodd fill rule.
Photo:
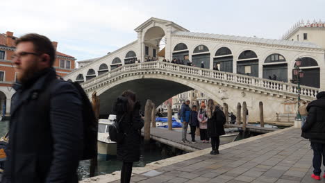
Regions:
<instances>
[{"instance_id":1,"label":"person in pale pink jacket, rightmost of the posing group","mask_svg":"<svg viewBox=\"0 0 325 183\"><path fill-rule=\"evenodd\" d=\"M203 143L208 143L208 116L206 116L206 104L204 103L204 101L202 101L201 103L201 108L199 110L199 113L197 114L197 120L199 121L200 139Z\"/></svg>"}]
</instances>

